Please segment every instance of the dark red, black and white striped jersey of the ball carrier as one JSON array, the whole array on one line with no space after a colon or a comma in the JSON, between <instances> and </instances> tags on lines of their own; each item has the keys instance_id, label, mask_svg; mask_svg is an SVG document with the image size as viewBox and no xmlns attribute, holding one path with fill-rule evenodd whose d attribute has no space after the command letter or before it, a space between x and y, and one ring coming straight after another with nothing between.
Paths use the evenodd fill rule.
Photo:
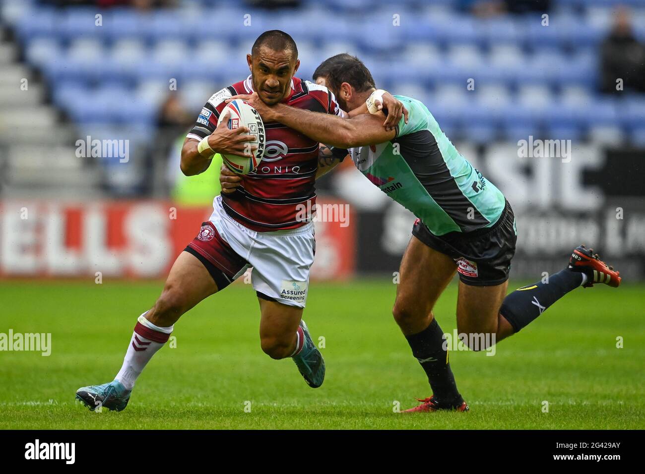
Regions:
<instances>
[{"instance_id":1,"label":"dark red, black and white striped jersey of the ball carrier","mask_svg":"<svg viewBox=\"0 0 645 474\"><path fill-rule=\"evenodd\" d=\"M326 87L293 77L291 89L282 103L343 116L334 95ZM252 92L249 76L213 94L187 137L201 140L210 135L226 106L224 101L233 95ZM254 172L242 175L241 186L234 193L222 193L224 210L235 221L257 232L303 226L312 216L303 219L301 210L315 209L319 143L277 122L264 123L264 132L266 144L261 163Z\"/></svg>"}]
</instances>

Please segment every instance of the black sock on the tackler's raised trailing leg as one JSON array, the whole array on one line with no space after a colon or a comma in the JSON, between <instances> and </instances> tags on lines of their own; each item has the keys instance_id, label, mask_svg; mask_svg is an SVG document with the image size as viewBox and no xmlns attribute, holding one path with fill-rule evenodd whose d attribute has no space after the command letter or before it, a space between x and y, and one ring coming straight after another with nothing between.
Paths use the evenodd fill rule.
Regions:
<instances>
[{"instance_id":1,"label":"black sock on the tackler's raised trailing leg","mask_svg":"<svg viewBox=\"0 0 645 474\"><path fill-rule=\"evenodd\" d=\"M582 273L571 272L565 268L561 272L551 275L548 283L539 281L513 291L506 296L499 312L517 332L544 313L551 304L581 284Z\"/></svg>"}]
</instances>

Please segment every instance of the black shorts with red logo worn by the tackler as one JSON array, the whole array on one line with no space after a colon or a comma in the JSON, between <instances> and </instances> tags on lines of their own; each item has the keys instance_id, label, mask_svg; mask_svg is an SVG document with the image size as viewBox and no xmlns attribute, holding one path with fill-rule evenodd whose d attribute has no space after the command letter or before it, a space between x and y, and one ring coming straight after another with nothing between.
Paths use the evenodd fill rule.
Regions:
<instances>
[{"instance_id":1,"label":"black shorts with red logo worn by the tackler","mask_svg":"<svg viewBox=\"0 0 645 474\"><path fill-rule=\"evenodd\" d=\"M467 233L434 235L421 219L417 219L412 235L428 247L452 258L457 264L459 279L465 284L493 286L508 280L517 241L515 215L508 201L491 227Z\"/></svg>"}]
</instances>

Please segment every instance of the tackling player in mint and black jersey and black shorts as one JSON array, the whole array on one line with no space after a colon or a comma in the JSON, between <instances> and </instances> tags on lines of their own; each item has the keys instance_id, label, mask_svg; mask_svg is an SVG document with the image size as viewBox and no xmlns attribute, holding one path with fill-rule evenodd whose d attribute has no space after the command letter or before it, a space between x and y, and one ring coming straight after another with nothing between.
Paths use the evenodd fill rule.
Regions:
<instances>
[{"instance_id":1,"label":"tackling player in mint and black jersey and black shorts","mask_svg":"<svg viewBox=\"0 0 645 474\"><path fill-rule=\"evenodd\" d=\"M366 112L382 92L375 90L364 64L348 54L324 61L314 79L335 94L344 110ZM459 333L488 335L484 341L493 344L520 331L578 286L620 284L619 272L579 246L568 266L551 275L548 284L539 281L506 295L517 240L513 210L502 192L457 152L428 108L416 99L394 96L408 110L409 121L401 119L389 129L378 115L341 119L283 104L267 106L256 95L239 97L264 119L338 147L332 157L321 159L319 175L341 161L348 148L357 168L417 217L401 262L393 315L428 375L433 395L406 411L468 410L433 315L435 302L455 272ZM234 187L237 179L223 174L223 187ZM464 342L470 341L473 338Z\"/></svg>"}]
</instances>

